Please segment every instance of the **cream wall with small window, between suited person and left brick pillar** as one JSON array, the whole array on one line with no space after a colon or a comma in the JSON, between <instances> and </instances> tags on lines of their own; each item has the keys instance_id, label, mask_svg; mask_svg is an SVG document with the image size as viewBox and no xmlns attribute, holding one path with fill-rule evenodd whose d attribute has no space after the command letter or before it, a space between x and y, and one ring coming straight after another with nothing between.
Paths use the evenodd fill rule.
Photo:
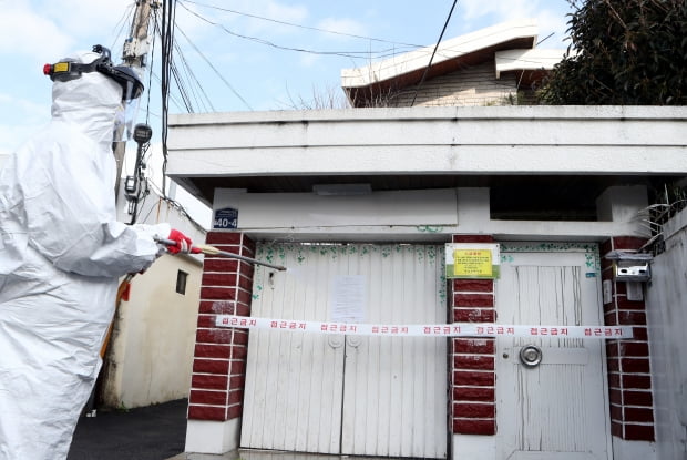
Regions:
<instances>
[{"instance_id":1,"label":"cream wall with small window, between suited person and left brick pillar","mask_svg":"<svg viewBox=\"0 0 687 460\"><path fill-rule=\"evenodd\" d=\"M130 222L125 201L119 218ZM155 194L141 212L142 224L170 223L192 241L205 234ZM186 294L175 292L177 272L188 274ZM103 368L102 397L107 406L148 406L188 397L203 265L201 256L163 255L134 277L122 301Z\"/></svg>"}]
</instances>

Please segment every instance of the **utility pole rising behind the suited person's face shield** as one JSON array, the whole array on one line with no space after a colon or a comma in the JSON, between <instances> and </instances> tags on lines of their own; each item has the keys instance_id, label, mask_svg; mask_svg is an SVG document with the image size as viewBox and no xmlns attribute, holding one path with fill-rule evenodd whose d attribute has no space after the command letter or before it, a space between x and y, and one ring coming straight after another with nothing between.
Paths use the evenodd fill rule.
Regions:
<instances>
[{"instance_id":1,"label":"utility pole rising behind the suited person's face shield","mask_svg":"<svg viewBox=\"0 0 687 460\"><path fill-rule=\"evenodd\" d=\"M134 68L139 74L143 72L146 65L146 55L150 48L148 25L151 22L151 12L160 7L160 0L136 0L136 10L134 19L131 23L129 38L124 41L124 50L122 59L124 65ZM148 89L150 91L150 89ZM116 182L114 186L115 200L120 197L120 182L122 177L122 168L124 166L124 153L126 151L126 142L115 142L113 144L114 159L116 160Z\"/></svg>"}]
</instances>

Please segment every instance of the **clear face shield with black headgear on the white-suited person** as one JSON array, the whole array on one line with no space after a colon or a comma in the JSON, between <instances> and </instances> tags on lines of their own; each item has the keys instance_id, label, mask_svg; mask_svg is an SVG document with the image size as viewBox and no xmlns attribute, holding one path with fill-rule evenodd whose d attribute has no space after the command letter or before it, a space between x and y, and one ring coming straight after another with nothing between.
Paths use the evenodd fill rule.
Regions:
<instances>
[{"instance_id":1,"label":"clear face shield with black headgear on the white-suited person","mask_svg":"<svg viewBox=\"0 0 687 460\"><path fill-rule=\"evenodd\" d=\"M43 73L52 81L66 82L81 78L81 74L85 72L100 72L115 81L122 88L122 106L114 120L112 140L113 142L127 141L133 133L143 82L134 69L113 65L109 49L96 44L93 47L93 52L99 53L100 57L91 63L78 63L68 59L55 64L45 64Z\"/></svg>"}]
</instances>

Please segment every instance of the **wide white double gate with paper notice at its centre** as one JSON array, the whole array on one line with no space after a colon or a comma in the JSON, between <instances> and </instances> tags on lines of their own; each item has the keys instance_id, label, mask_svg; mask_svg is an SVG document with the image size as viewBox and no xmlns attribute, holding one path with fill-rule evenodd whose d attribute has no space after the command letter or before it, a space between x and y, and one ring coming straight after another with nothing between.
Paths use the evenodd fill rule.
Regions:
<instances>
[{"instance_id":1,"label":"wide white double gate with paper notice at its centre","mask_svg":"<svg viewBox=\"0 0 687 460\"><path fill-rule=\"evenodd\" d=\"M256 267L253 316L335 320L350 300L365 323L447 321L443 246L275 244L257 257L288 270ZM447 380L445 338L254 330L240 444L445 458Z\"/></svg>"}]
</instances>

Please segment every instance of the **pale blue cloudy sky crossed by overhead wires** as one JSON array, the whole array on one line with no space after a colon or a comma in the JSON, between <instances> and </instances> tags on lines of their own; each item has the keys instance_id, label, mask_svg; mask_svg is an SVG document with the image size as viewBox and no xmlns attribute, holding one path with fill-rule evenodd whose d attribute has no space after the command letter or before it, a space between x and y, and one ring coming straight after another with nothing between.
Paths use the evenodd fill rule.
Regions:
<instances>
[{"instance_id":1,"label":"pale blue cloudy sky crossed by overhead wires","mask_svg":"<svg viewBox=\"0 0 687 460\"><path fill-rule=\"evenodd\" d=\"M98 43L110 48L119 62L134 4L0 0L0 155L50 121L51 82L42 74L43 64ZM341 69L434 44L452 4L453 0L178 0L174 60L188 102L173 89L170 113L291 110L312 106L315 100L340 101ZM531 18L539 22L539 39L545 39L539 48L565 49L570 12L567 0L458 0L443 40ZM153 147L161 131L160 62L156 39L137 120L153 127ZM148 170L160 183L161 168Z\"/></svg>"}]
</instances>

